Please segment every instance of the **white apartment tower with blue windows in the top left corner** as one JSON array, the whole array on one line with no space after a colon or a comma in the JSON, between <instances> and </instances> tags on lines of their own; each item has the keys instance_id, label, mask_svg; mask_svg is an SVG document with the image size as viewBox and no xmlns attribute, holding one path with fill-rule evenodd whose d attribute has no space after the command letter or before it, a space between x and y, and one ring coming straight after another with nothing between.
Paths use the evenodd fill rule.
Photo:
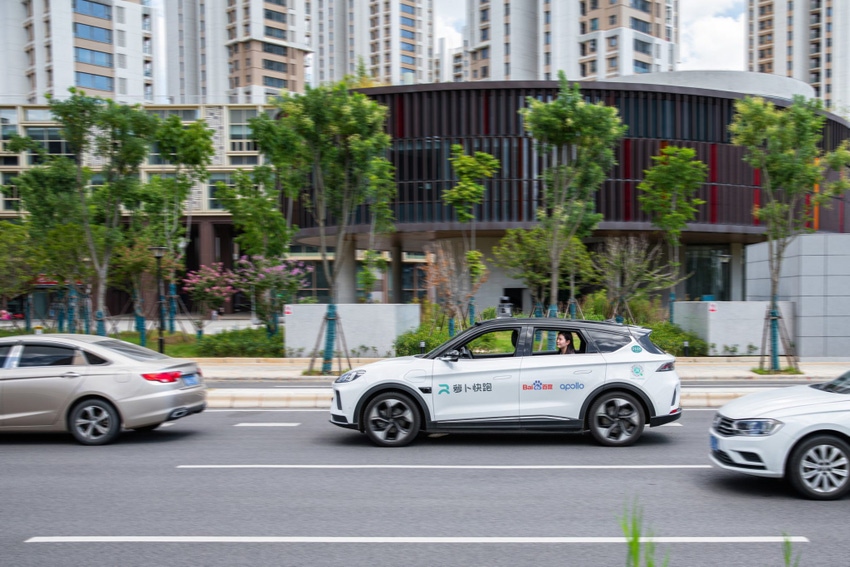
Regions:
<instances>
[{"instance_id":1,"label":"white apartment tower with blue windows in the top left corner","mask_svg":"<svg viewBox=\"0 0 850 567\"><path fill-rule=\"evenodd\" d=\"M158 31L149 2L4 2L0 101L43 103L76 86L120 102L164 94L154 74Z\"/></svg>"}]
</instances>

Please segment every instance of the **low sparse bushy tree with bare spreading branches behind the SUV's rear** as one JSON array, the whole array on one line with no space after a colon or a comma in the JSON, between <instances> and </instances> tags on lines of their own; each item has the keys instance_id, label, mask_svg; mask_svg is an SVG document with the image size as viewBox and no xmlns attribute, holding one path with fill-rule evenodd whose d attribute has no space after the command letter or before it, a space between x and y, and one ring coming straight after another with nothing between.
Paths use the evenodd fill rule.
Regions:
<instances>
[{"instance_id":1,"label":"low sparse bushy tree with bare spreading branches behind the SUV's rear","mask_svg":"<svg viewBox=\"0 0 850 567\"><path fill-rule=\"evenodd\" d=\"M661 265L661 245L650 247L646 237L609 238L594 256L596 269L608 293L611 316L620 317L635 297L666 289L679 281L675 267Z\"/></svg>"}]
</instances>

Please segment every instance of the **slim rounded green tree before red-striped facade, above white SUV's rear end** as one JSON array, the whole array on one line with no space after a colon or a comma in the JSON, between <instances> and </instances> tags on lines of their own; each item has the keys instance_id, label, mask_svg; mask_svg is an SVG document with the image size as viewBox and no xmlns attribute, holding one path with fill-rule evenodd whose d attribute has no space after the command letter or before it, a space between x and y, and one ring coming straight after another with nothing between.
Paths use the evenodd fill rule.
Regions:
<instances>
[{"instance_id":1,"label":"slim rounded green tree before red-striped facade, above white SUV's rear end","mask_svg":"<svg viewBox=\"0 0 850 567\"><path fill-rule=\"evenodd\" d=\"M669 247L670 263L681 275L679 246L682 230L696 217L697 207L705 204L694 197L705 181L706 165L696 159L692 148L667 146L661 155L652 156L654 165L644 170L643 181L638 185L638 201L652 217L652 225L664 232ZM670 321L676 294L670 289Z\"/></svg>"}]
</instances>

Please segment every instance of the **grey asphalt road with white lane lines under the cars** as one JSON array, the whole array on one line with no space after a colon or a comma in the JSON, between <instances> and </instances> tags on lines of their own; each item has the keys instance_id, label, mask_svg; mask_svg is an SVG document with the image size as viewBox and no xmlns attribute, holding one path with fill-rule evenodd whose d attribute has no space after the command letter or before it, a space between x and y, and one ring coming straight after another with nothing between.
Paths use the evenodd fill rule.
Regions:
<instances>
[{"instance_id":1,"label":"grey asphalt road with white lane lines under the cars","mask_svg":"<svg viewBox=\"0 0 850 567\"><path fill-rule=\"evenodd\" d=\"M0 436L3 565L625 564L637 504L670 566L846 565L848 500L709 465L712 411L633 447L449 435L373 447L326 411L218 410L106 447ZM67 538L59 539L56 538ZM416 538L416 539L410 539ZM705 539L709 538L709 539ZM660 564L660 561L659 561Z\"/></svg>"}]
</instances>

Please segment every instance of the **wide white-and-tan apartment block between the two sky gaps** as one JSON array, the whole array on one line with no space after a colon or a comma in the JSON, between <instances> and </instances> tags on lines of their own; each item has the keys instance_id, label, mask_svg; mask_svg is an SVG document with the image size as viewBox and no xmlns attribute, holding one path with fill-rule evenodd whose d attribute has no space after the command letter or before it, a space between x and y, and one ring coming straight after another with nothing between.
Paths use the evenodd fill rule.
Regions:
<instances>
[{"instance_id":1,"label":"wide white-and-tan apartment block between the two sky gaps","mask_svg":"<svg viewBox=\"0 0 850 567\"><path fill-rule=\"evenodd\" d=\"M675 71L678 0L467 0L470 81Z\"/></svg>"}]
</instances>

